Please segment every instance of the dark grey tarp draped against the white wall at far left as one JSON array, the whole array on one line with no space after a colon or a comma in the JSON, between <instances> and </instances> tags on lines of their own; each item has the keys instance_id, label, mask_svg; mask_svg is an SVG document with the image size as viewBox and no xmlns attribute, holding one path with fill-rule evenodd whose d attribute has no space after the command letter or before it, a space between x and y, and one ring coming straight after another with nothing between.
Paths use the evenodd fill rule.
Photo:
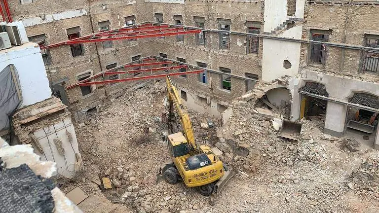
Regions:
<instances>
[{"instance_id":1,"label":"dark grey tarp draped against the white wall at far left","mask_svg":"<svg viewBox=\"0 0 379 213\"><path fill-rule=\"evenodd\" d=\"M0 72L0 131L9 128L9 116L20 106L21 97L17 70L8 65Z\"/></svg>"}]
</instances>

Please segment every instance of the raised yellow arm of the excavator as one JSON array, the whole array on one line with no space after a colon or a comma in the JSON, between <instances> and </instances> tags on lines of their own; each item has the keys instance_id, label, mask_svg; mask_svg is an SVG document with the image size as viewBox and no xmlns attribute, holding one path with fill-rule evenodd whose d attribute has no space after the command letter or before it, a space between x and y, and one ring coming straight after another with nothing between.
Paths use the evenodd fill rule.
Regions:
<instances>
[{"instance_id":1,"label":"raised yellow arm of the excavator","mask_svg":"<svg viewBox=\"0 0 379 213\"><path fill-rule=\"evenodd\" d=\"M169 76L166 77L166 90L167 90L167 100L168 100L168 108L169 108L169 119L174 117L174 106L179 115L180 123L183 128L183 135L187 139L188 143L194 148L196 147L196 142L193 136L192 124L189 119L189 114L186 109L186 106L183 105L181 98L179 97L178 90L173 85Z\"/></svg>"}]
</instances>

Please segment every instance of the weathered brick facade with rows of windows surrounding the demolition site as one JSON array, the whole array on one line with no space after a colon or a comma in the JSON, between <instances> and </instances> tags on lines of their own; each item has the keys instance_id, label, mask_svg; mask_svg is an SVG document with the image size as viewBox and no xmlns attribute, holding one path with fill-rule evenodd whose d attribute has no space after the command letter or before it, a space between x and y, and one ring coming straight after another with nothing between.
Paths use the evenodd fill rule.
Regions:
<instances>
[{"instance_id":1,"label":"weathered brick facade with rows of windows surrounding the demolition site","mask_svg":"<svg viewBox=\"0 0 379 213\"><path fill-rule=\"evenodd\" d=\"M230 31L248 32L248 23L258 23L261 34L264 26L265 2L251 1L207 1L186 0L184 3L172 3L171 0L162 2L145 2L144 0L59 0L40 1L20 5L18 0L9 0L14 20L26 20L40 17L41 23L32 23L27 26L28 36L46 35L48 44L68 39L66 29L80 27L80 35L99 32L100 22L109 22L109 29L120 28L125 25L125 17L134 16L135 23L155 21L154 13L163 14L163 22L175 24L175 18L181 19L184 26L195 26L195 20L204 20L207 30L219 30L220 20L230 22ZM296 0L287 1L287 15L293 16L296 9ZM64 11L85 10L81 15L72 15L70 18L58 18L46 22L43 17L49 14L62 14ZM302 39L310 39L311 29L330 31L329 42L345 43L361 46L364 44L365 34L379 34L379 22L372 18L379 14L377 4L366 5L348 0L341 1L306 1L304 17L297 19L295 25L302 25ZM67 15L67 14L66 14ZM62 17L56 16L56 17ZM46 23L45 23L46 22ZM25 22L24 22L25 23ZM284 29L285 31L285 29ZM83 56L73 57L70 46L51 48L50 65L47 66L47 75L51 82L69 86L75 84L76 76L85 71L92 74L105 71L110 64L117 66L131 62L131 57L141 55L167 54L169 59L183 58L187 63L196 65L205 63L208 69L219 71L220 67L230 69L231 74L245 77L250 73L262 79L263 38L259 38L257 53L248 54L248 39L245 35L231 34L227 49L220 49L220 35L218 32L206 32L205 44L196 45L195 36L185 35L183 41L177 41L176 36L165 38L138 39L137 41L113 41L112 47L103 48L102 43L84 44ZM361 50L343 49L341 47L326 46L327 56L325 66L314 66L309 63L309 44L302 43L300 70L316 70L326 73L336 73L361 77ZM289 53L290 54L290 53ZM275 56L272 56L275 57ZM366 74L364 74L365 76ZM369 75L370 81L377 79L376 75ZM227 105L231 99L246 92L246 80L231 77L231 90L221 88L221 75L207 72L207 83L200 82L198 74L188 75L187 78L176 77L179 87L201 97L211 98L218 103ZM101 105L106 97L130 85L119 83L104 86L92 86L92 94L82 96L79 87L67 89L67 98L70 105L80 109L88 109Z\"/></svg>"}]
</instances>

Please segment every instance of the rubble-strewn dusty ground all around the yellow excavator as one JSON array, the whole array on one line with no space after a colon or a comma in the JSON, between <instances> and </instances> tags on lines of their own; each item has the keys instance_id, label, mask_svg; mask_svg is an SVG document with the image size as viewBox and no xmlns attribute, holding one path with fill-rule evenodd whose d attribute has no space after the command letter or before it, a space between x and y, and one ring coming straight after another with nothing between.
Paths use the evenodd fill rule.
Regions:
<instances>
[{"instance_id":1,"label":"rubble-strewn dusty ground all around the yellow excavator","mask_svg":"<svg viewBox=\"0 0 379 213\"><path fill-rule=\"evenodd\" d=\"M254 99L233 102L223 126L189 110L197 142L222 149L222 160L237 173L214 206L184 183L156 184L158 168L169 159L160 137L166 130L164 86L130 88L110 100L97 114L99 130L93 120L76 125L83 172L62 189L79 185L90 194L79 204L84 212L379 212L378 150L360 147L351 154L336 145L341 139L322 134L322 127L306 120L299 142L284 141L273 127L280 115L257 113ZM201 128L207 119L214 126ZM110 178L113 188L104 189L102 178Z\"/></svg>"}]
</instances>

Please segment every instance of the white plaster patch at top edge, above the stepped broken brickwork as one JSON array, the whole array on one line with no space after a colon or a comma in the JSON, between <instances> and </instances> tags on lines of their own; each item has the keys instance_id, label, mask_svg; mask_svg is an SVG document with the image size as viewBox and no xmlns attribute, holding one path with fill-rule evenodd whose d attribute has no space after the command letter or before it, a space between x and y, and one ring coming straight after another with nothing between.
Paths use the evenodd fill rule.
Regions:
<instances>
[{"instance_id":1,"label":"white plaster patch at top edge, above the stepped broken brickwork","mask_svg":"<svg viewBox=\"0 0 379 213\"><path fill-rule=\"evenodd\" d=\"M271 33L286 20L287 0L265 0L265 33Z\"/></svg>"}]
</instances>

